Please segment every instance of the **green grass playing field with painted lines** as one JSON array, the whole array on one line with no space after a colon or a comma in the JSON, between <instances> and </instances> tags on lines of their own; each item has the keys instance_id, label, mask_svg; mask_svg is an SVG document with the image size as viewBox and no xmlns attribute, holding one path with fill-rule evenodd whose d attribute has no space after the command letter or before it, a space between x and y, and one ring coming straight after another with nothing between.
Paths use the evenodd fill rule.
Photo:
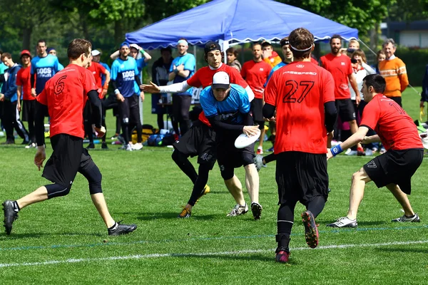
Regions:
<instances>
[{"instance_id":1,"label":"green grass playing field with painted lines","mask_svg":"<svg viewBox=\"0 0 428 285\"><path fill-rule=\"evenodd\" d=\"M149 96L148 96L149 97ZM408 89L404 108L419 118L419 96ZM155 125L146 101L144 123ZM111 116L108 124L113 125ZM109 135L113 135L112 132ZM4 138L0 139L0 142ZM18 140L17 140L18 142ZM98 148L100 146L98 145ZM91 151L116 220L136 223L133 234L108 237L78 175L71 193L19 213L11 236L0 234L0 284L426 284L428 277L427 162L414 175L410 201L421 223L394 224L402 215L386 188L366 187L357 229L325 224L347 212L352 173L370 157L340 155L328 163L329 200L317 223L320 246L309 249L296 207L289 264L275 263L275 163L260 170L263 217L227 218L234 200L218 167L211 192L190 219L177 219L191 182L166 147L140 152ZM266 147L267 148L267 147ZM0 147L0 199L16 199L49 184L33 165L35 150ZM48 147L48 155L51 150ZM192 160L195 162L195 160ZM236 171L243 181L244 171ZM247 202L248 195L245 192Z\"/></svg>"}]
</instances>

